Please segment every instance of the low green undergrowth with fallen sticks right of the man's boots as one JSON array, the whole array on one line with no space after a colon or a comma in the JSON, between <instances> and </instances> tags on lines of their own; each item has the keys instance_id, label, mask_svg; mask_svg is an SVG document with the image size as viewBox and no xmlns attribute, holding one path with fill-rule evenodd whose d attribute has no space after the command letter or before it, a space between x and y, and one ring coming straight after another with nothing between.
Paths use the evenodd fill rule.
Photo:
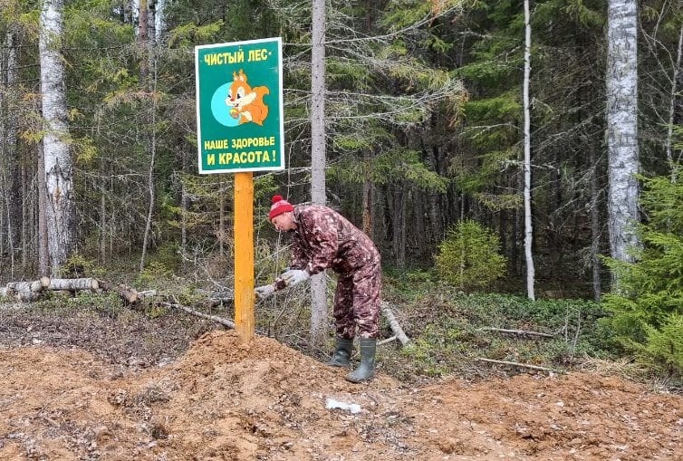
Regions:
<instances>
[{"instance_id":1,"label":"low green undergrowth with fallen sticks right of the man's boots","mask_svg":"<svg viewBox=\"0 0 683 461\"><path fill-rule=\"evenodd\" d=\"M562 371L587 358L616 358L598 322L605 313L590 301L463 293L412 275L385 280L384 297L396 306L413 342L409 348L387 345L380 352L383 370L401 380L533 370L523 365ZM383 326L386 336L389 329Z\"/></svg>"}]
</instances>

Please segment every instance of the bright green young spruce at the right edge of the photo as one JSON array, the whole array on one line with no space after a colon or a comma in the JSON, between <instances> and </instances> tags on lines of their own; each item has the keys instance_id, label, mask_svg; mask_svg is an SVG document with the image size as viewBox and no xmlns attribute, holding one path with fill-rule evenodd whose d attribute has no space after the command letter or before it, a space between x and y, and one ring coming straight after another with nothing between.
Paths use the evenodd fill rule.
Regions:
<instances>
[{"instance_id":1,"label":"bright green young spruce at the right edge of the photo","mask_svg":"<svg viewBox=\"0 0 683 461\"><path fill-rule=\"evenodd\" d=\"M644 246L635 263L607 260L619 285L604 297L613 313L605 322L640 360L683 374L683 184L645 178L640 203L649 218L640 226Z\"/></svg>"}]
</instances>

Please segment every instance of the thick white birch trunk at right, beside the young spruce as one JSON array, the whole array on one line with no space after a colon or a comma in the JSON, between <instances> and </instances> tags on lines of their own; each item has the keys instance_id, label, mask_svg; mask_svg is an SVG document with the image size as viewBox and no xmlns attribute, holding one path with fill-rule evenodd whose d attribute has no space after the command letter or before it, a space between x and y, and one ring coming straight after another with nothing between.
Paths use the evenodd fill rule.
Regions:
<instances>
[{"instance_id":1,"label":"thick white birch trunk at right, beside the young spruce","mask_svg":"<svg viewBox=\"0 0 683 461\"><path fill-rule=\"evenodd\" d=\"M638 13L635 0L608 2L607 31L607 150L609 158L608 214L611 257L632 262L640 246L638 157ZM614 279L615 285L618 280Z\"/></svg>"}]
</instances>

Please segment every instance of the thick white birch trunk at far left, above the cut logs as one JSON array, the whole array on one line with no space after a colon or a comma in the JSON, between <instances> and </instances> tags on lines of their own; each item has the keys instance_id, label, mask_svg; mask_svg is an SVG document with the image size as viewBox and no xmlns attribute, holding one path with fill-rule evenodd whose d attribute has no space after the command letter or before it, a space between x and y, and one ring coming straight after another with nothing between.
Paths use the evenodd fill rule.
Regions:
<instances>
[{"instance_id":1,"label":"thick white birch trunk at far left, above the cut logs","mask_svg":"<svg viewBox=\"0 0 683 461\"><path fill-rule=\"evenodd\" d=\"M40 77L43 103L45 218L51 275L75 248L73 162L69 146L63 40L63 0L43 0L40 15Z\"/></svg>"}]
</instances>

